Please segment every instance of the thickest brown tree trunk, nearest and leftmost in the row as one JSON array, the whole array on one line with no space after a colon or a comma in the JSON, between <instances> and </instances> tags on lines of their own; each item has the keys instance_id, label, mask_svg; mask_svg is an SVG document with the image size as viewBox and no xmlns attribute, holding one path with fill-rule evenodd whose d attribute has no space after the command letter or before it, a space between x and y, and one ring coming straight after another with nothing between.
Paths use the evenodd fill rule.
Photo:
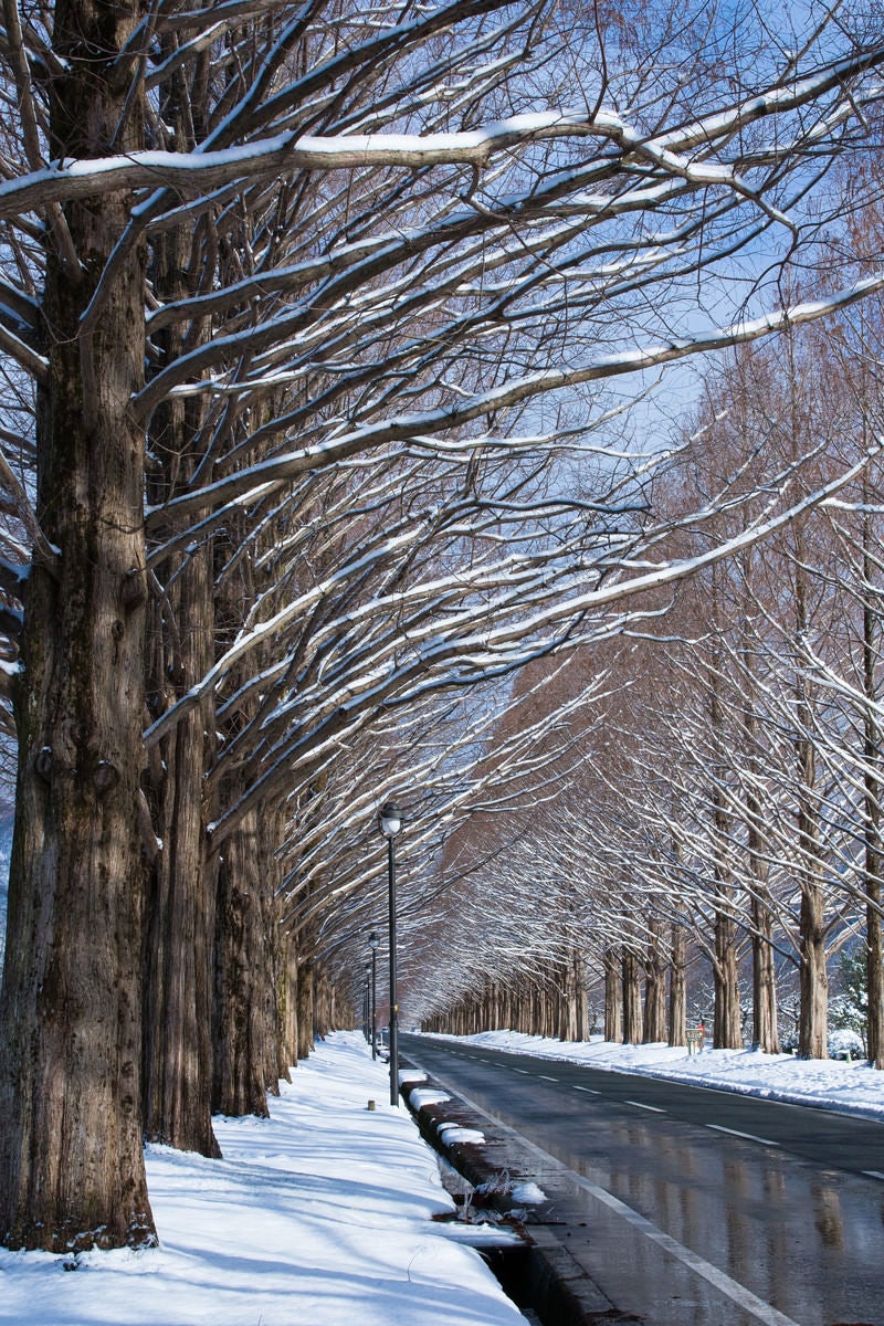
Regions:
<instances>
[{"instance_id":1,"label":"thickest brown tree trunk, nearest and leftmost in the row","mask_svg":"<svg viewBox=\"0 0 884 1326\"><path fill-rule=\"evenodd\" d=\"M56 9L50 155L143 146L114 76L139 7ZM89 66L85 74L85 64ZM114 90L118 89L118 90ZM138 102L138 94L135 95ZM0 1238L66 1250L154 1240L142 1158L144 713L143 253L133 245L93 332L82 317L131 200L73 204L77 269L49 253L37 513L58 549L33 569L0 1001Z\"/></svg>"}]
</instances>

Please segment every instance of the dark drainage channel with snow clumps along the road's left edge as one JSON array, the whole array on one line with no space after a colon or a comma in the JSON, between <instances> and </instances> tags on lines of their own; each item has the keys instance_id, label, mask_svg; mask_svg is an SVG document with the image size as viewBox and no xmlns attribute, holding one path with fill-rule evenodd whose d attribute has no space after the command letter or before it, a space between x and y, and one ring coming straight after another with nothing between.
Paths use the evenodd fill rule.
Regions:
<instances>
[{"instance_id":1,"label":"dark drainage channel with snow clumps along the road's left edge","mask_svg":"<svg viewBox=\"0 0 884 1326\"><path fill-rule=\"evenodd\" d=\"M408 1070L408 1062L400 1062ZM489 1248L477 1240L477 1250L531 1326L640 1326L641 1318L620 1311L571 1256L566 1246L570 1232L555 1204L542 1192L530 1195L530 1204L525 1204L526 1189L542 1179L537 1164L524 1164L512 1142L496 1135L489 1120L452 1097L448 1087L444 1103L433 1101L443 1089L436 1091L423 1070L416 1070L412 1081L407 1071L403 1077L408 1109L440 1158L443 1183L456 1203L455 1219L501 1225L501 1244ZM478 1132L481 1144L476 1143Z\"/></svg>"}]
</instances>

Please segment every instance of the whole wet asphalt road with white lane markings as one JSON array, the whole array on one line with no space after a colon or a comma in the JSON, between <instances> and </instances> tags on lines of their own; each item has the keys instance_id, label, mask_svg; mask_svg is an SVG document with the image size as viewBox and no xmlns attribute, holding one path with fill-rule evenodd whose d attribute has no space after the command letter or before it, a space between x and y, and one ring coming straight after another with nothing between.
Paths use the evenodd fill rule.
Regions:
<instances>
[{"instance_id":1,"label":"whole wet asphalt road with white lane markings","mask_svg":"<svg viewBox=\"0 0 884 1326\"><path fill-rule=\"evenodd\" d=\"M884 1326L880 1123L424 1037L402 1050L514 1130L573 1254L647 1326Z\"/></svg>"}]
</instances>

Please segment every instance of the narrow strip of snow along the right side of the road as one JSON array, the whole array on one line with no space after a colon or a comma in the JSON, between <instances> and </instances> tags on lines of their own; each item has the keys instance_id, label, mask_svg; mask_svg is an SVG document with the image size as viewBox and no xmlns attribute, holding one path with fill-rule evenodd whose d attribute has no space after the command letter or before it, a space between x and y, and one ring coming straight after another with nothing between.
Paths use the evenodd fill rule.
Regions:
<instances>
[{"instance_id":1,"label":"narrow strip of snow along the right side of the road","mask_svg":"<svg viewBox=\"0 0 884 1326\"><path fill-rule=\"evenodd\" d=\"M477 1036L435 1037L464 1045L485 1045L538 1058L586 1063L594 1069L677 1078L770 1101L791 1101L827 1110L884 1118L884 1073L867 1063L842 1059L799 1059L758 1050L710 1050L688 1054L668 1045L612 1045L600 1037L569 1044L520 1032L480 1032Z\"/></svg>"}]
</instances>

